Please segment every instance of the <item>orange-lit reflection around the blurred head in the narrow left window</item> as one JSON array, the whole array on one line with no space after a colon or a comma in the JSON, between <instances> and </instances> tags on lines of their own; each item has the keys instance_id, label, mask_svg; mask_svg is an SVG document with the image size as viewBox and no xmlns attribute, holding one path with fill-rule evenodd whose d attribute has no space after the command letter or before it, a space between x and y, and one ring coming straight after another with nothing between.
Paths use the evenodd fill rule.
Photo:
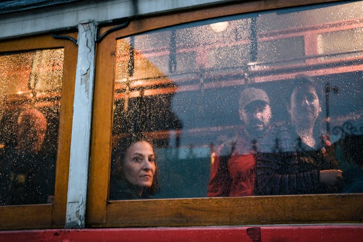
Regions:
<instances>
[{"instance_id":1,"label":"orange-lit reflection around the blurred head in the narrow left window","mask_svg":"<svg viewBox=\"0 0 363 242\"><path fill-rule=\"evenodd\" d=\"M0 115L3 145L15 145L15 124L22 109L42 111L48 127L44 149L56 156L63 75L63 49L45 49L0 56ZM54 158L53 157L53 158Z\"/></svg>"}]
</instances>

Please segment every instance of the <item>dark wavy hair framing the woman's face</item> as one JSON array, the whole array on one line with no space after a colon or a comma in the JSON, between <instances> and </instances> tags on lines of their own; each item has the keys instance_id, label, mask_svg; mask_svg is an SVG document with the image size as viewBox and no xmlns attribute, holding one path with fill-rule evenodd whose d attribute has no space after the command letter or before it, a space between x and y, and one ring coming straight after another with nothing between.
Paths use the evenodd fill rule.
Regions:
<instances>
[{"instance_id":1,"label":"dark wavy hair framing the woman's face","mask_svg":"<svg viewBox=\"0 0 363 242\"><path fill-rule=\"evenodd\" d=\"M134 134L122 137L114 142L112 153L111 153L111 182L113 180L124 180L122 172L122 163L125 161L126 151L132 144L139 141L146 141L151 144L152 150L154 151L153 141L142 134ZM155 157L155 173L152 180L151 187L145 189L144 192L154 195L159 191L159 169Z\"/></svg>"}]
</instances>

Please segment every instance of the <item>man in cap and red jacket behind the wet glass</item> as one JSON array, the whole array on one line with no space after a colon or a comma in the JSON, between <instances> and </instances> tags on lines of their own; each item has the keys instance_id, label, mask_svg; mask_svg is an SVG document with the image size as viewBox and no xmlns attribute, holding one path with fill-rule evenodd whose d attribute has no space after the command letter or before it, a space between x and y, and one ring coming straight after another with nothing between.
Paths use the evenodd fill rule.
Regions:
<instances>
[{"instance_id":1,"label":"man in cap and red jacket behind the wet glass","mask_svg":"<svg viewBox=\"0 0 363 242\"><path fill-rule=\"evenodd\" d=\"M266 91L247 88L239 100L242 129L235 140L222 144L212 159L208 197L254 195L255 152L271 151L271 107Z\"/></svg>"}]
</instances>

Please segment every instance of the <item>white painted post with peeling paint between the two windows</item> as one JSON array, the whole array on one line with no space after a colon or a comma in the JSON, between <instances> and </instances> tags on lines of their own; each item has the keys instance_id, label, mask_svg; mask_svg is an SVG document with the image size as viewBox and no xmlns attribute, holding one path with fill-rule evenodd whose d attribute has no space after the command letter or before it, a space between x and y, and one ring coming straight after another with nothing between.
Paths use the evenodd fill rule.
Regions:
<instances>
[{"instance_id":1,"label":"white painted post with peeling paint between the two windows","mask_svg":"<svg viewBox=\"0 0 363 242\"><path fill-rule=\"evenodd\" d=\"M71 156L69 164L66 228L84 228L90 160L91 117L96 26L78 25L78 58Z\"/></svg>"}]
</instances>

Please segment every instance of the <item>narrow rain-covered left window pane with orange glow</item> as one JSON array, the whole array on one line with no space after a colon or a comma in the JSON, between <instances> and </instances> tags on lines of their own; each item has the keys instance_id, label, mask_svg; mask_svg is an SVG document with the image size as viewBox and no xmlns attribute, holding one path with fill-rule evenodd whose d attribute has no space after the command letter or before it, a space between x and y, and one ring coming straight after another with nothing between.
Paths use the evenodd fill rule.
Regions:
<instances>
[{"instance_id":1,"label":"narrow rain-covered left window pane with orange glow","mask_svg":"<svg viewBox=\"0 0 363 242\"><path fill-rule=\"evenodd\" d=\"M0 205L53 203L63 58L0 55Z\"/></svg>"}]
</instances>

